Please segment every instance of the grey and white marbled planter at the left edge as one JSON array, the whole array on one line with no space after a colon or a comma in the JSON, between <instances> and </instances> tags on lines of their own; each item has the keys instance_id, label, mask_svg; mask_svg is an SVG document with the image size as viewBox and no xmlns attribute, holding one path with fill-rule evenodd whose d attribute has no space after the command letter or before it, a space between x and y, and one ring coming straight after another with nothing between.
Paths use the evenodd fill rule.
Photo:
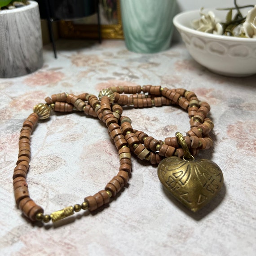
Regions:
<instances>
[{"instance_id":1,"label":"grey and white marbled planter at the left edge","mask_svg":"<svg viewBox=\"0 0 256 256\"><path fill-rule=\"evenodd\" d=\"M42 33L38 4L0 10L0 77L16 77L43 65Z\"/></svg>"}]
</instances>

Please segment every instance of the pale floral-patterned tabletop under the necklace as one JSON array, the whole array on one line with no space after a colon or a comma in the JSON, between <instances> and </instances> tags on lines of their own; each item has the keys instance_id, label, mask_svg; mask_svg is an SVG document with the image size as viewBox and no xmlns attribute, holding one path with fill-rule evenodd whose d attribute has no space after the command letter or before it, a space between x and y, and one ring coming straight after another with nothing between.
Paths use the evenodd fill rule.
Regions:
<instances>
[{"instance_id":1,"label":"pale floral-patterned tabletop under the necklace","mask_svg":"<svg viewBox=\"0 0 256 256\"><path fill-rule=\"evenodd\" d=\"M58 58L44 48L33 74L0 79L1 255L254 255L256 251L256 76L215 75L194 62L184 44L151 55L128 52L124 41L59 40ZM160 184L157 168L132 158L128 185L97 212L32 224L14 202L12 173L22 122L54 93L93 93L112 85L162 85L194 91L211 107L214 148L200 154L222 169L225 186L198 213ZM185 134L189 120L172 106L127 109L134 128L164 139ZM82 114L53 114L31 137L27 181L31 198L51 213L82 203L118 172L106 128Z\"/></svg>"}]
</instances>

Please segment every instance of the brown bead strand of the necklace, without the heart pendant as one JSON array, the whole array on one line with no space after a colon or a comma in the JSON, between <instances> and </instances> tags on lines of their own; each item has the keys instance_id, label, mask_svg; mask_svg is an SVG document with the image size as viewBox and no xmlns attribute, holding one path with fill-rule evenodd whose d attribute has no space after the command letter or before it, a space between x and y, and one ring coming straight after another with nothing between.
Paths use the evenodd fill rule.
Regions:
<instances>
[{"instance_id":1,"label":"brown bead strand of the necklace, without the heart pendant","mask_svg":"<svg viewBox=\"0 0 256 256\"><path fill-rule=\"evenodd\" d=\"M190 130L184 137L190 154L194 156L200 149L205 150L212 146L212 139L208 133L212 130L213 123L207 118L210 106L206 102L199 101L193 92L185 89L168 89L152 85L111 87L102 90L99 98L88 93L79 96L59 93L45 98L45 102L46 104L36 105L34 113L29 115L23 123L19 137L17 166L13 172L14 197L17 206L31 221L49 222L52 219L55 222L74 214L74 211L79 212L81 209L94 211L109 203L110 198L114 198L128 182L132 165L131 151L139 159L149 161L152 165L172 155L184 157L184 149L177 137L167 137L161 141L133 129L131 119L122 116L122 106L133 105L135 108L142 108L178 105L188 111L190 118ZM120 167L117 175L107 183L104 190L85 197L81 204L44 215L44 209L30 198L26 173L31 157L31 132L38 119L47 119L51 110L60 112L79 110L102 120L118 150Z\"/></svg>"}]
</instances>

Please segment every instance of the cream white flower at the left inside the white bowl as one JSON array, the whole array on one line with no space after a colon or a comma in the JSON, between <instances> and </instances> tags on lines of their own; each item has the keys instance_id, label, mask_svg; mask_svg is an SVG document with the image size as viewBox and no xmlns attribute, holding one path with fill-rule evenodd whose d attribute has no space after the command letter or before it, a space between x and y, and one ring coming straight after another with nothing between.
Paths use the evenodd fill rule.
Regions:
<instances>
[{"instance_id":1,"label":"cream white flower at the left inside the white bowl","mask_svg":"<svg viewBox=\"0 0 256 256\"><path fill-rule=\"evenodd\" d=\"M205 33L212 33L215 35L222 35L223 28L221 23L219 23L216 18L215 14L212 11L209 11L207 14L203 13L203 8L200 9L201 18L198 20L192 21L192 26L197 31L202 31Z\"/></svg>"}]
</instances>

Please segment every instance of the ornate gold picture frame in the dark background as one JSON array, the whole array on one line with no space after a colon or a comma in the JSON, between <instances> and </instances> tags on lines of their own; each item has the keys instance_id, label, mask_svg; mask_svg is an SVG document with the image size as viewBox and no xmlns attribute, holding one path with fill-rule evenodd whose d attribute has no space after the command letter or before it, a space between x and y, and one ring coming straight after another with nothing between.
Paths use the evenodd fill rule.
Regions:
<instances>
[{"instance_id":1,"label":"ornate gold picture frame in the dark background","mask_svg":"<svg viewBox=\"0 0 256 256\"><path fill-rule=\"evenodd\" d=\"M102 39L124 39L120 1L116 2L117 23L111 25L101 25ZM75 24L73 21L60 21L60 36L72 39L98 39L98 24Z\"/></svg>"}]
</instances>

